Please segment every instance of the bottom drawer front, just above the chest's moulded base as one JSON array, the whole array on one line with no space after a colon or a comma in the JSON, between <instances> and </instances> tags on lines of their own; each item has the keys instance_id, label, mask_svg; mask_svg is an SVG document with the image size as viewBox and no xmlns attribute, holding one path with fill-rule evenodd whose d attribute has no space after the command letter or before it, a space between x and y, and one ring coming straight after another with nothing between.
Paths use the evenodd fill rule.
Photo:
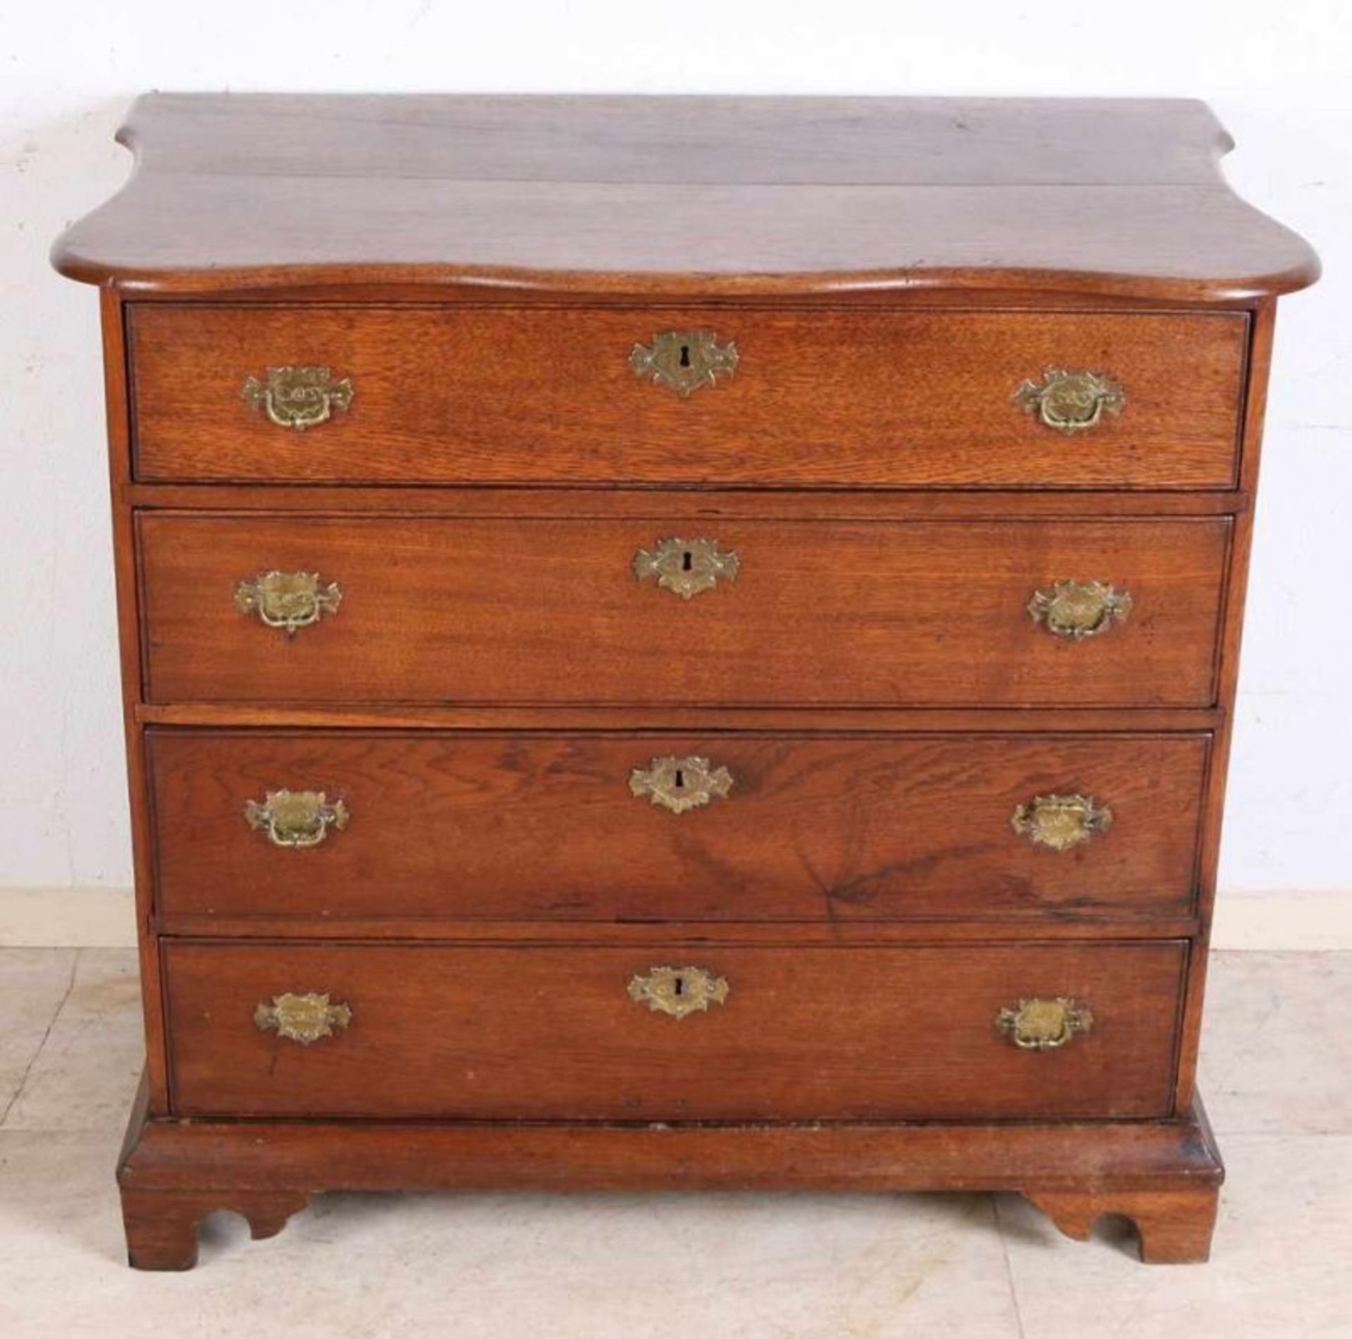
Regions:
<instances>
[{"instance_id":1,"label":"bottom drawer front, just above the chest's moulded base","mask_svg":"<svg viewBox=\"0 0 1352 1339\"><path fill-rule=\"evenodd\" d=\"M977 1120L1167 1114L1186 948L166 941L164 959L180 1116ZM1041 1027L1037 1006L1014 1017L1032 1000ZM1025 1043L1064 1044L1015 1044L1002 1010Z\"/></svg>"}]
</instances>

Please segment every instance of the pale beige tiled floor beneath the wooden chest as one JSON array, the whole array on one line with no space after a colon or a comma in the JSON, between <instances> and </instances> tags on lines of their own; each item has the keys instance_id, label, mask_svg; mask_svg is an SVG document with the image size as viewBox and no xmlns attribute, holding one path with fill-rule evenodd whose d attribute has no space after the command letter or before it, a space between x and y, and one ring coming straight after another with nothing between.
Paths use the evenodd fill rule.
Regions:
<instances>
[{"instance_id":1,"label":"pale beige tiled floor beneath the wooden chest","mask_svg":"<svg viewBox=\"0 0 1352 1339\"><path fill-rule=\"evenodd\" d=\"M1352 955L1217 955L1205 1089L1229 1166L1209 1266L1065 1240L998 1196L326 1196L201 1266L123 1263L112 1162L135 963L0 951L5 1339L1317 1339L1352 1335Z\"/></svg>"}]
</instances>

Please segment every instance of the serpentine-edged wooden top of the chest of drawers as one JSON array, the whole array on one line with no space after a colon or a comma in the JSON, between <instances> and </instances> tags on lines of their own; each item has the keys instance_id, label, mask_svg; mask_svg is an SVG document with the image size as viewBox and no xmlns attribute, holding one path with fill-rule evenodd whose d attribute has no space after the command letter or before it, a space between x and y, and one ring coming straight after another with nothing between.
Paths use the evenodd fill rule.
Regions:
<instances>
[{"instance_id":1,"label":"serpentine-edged wooden top of the chest of drawers","mask_svg":"<svg viewBox=\"0 0 1352 1339\"><path fill-rule=\"evenodd\" d=\"M135 176L53 252L91 283L1214 302L1318 275L1201 103L180 93L120 138Z\"/></svg>"}]
</instances>

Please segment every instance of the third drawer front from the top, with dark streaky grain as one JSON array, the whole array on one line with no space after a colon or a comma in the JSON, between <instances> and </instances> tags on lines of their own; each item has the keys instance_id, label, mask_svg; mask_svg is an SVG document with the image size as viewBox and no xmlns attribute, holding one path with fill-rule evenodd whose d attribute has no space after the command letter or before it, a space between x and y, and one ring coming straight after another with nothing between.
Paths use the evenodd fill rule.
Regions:
<instances>
[{"instance_id":1,"label":"third drawer front from the top, with dark streaky grain","mask_svg":"<svg viewBox=\"0 0 1352 1339\"><path fill-rule=\"evenodd\" d=\"M485 921L1186 914L1207 744L151 730L158 909ZM281 793L295 798L269 805Z\"/></svg>"}]
</instances>

